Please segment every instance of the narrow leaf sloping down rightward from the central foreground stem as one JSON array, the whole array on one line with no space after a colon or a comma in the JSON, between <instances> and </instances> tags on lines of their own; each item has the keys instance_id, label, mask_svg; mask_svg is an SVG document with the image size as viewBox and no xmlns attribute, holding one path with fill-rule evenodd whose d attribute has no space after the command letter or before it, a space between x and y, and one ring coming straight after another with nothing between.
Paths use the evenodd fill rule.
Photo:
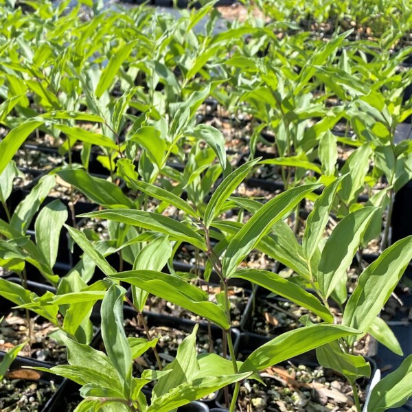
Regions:
<instances>
[{"instance_id":1,"label":"narrow leaf sloping down rightward from the central foreground stem","mask_svg":"<svg viewBox=\"0 0 412 412\"><path fill-rule=\"evenodd\" d=\"M317 297L276 273L258 269L242 269L233 273L233 276L231 277L240 277L241 279L249 280L249 282L262 286L263 288L271 290L273 293L277 293L277 295L294 301L299 306L303 306L314 314L317 314L324 321L333 323L332 314L321 304L321 301L319 301Z\"/></svg>"}]
</instances>

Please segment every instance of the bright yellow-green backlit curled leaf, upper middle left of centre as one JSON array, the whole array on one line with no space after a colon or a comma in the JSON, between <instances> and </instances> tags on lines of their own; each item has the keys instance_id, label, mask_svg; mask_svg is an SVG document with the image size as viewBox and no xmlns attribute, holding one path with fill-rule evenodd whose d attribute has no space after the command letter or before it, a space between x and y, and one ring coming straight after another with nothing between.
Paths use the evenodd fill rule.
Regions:
<instances>
[{"instance_id":1,"label":"bright yellow-green backlit curled leaf, upper middle left of centre","mask_svg":"<svg viewBox=\"0 0 412 412\"><path fill-rule=\"evenodd\" d=\"M155 126L143 126L129 138L146 150L146 155L159 169L163 167L166 142L161 138L160 131Z\"/></svg>"}]
</instances>

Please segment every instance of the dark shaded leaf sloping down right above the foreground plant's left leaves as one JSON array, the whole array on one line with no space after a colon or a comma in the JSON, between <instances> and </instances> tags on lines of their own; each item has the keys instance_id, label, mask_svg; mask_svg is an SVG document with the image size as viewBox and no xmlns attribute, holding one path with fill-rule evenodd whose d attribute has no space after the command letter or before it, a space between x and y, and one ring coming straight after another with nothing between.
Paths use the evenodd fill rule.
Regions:
<instances>
[{"instance_id":1,"label":"dark shaded leaf sloping down right above the foreground plant's left leaves","mask_svg":"<svg viewBox=\"0 0 412 412\"><path fill-rule=\"evenodd\" d=\"M84 170L60 170L57 174L98 205L129 209L135 207L133 201L122 192L119 186L105 179L90 176Z\"/></svg>"}]
</instances>

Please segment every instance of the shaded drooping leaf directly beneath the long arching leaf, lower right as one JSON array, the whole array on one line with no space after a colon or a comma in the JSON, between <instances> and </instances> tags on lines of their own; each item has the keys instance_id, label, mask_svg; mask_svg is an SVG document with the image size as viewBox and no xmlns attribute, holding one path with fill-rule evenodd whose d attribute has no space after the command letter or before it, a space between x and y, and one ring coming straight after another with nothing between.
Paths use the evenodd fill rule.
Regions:
<instances>
[{"instance_id":1,"label":"shaded drooping leaf directly beneath the long arching leaf, lower right","mask_svg":"<svg viewBox=\"0 0 412 412\"><path fill-rule=\"evenodd\" d=\"M316 355L323 367L333 369L342 374L353 385L362 376L369 378L371 366L361 355L350 355L343 352L338 341L317 347Z\"/></svg>"}]
</instances>

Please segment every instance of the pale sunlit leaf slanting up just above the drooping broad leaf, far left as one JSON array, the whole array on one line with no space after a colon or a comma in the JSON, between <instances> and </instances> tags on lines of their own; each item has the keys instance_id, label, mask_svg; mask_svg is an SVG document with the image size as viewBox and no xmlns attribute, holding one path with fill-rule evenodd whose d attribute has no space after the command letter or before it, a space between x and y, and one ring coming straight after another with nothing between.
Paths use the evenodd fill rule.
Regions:
<instances>
[{"instance_id":1,"label":"pale sunlit leaf slanting up just above the drooping broad leaf, far left","mask_svg":"<svg viewBox=\"0 0 412 412\"><path fill-rule=\"evenodd\" d=\"M36 214L54 185L56 185L54 176L43 176L30 194L27 194L23 201L19 203L19 206L16 207L10 225L20 233L25 233L32 222L34 214Z\"/></svg>"}]
</instances>

